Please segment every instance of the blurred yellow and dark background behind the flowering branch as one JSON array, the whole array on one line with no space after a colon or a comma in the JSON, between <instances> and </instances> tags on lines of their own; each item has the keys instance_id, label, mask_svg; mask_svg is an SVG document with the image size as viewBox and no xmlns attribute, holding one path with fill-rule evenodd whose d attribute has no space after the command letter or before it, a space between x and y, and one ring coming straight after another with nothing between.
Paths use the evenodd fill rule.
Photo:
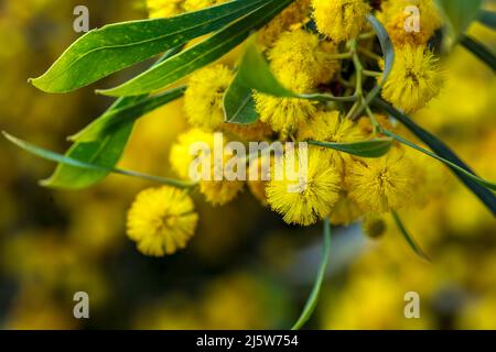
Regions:
<instances>
[{"instance_id":1,"label":"blurred yellow and dark background behind the flowering branch","mask_svg":"<svg viewBox=\"0 0 496 352\"><path fill-rule=\"evenodd\" d=\"M95 86L54 96L26 84L78 37L78 4L89 8L91 28L145 18L139 1L0 0L0 129L60 152L111 102ZM471 33L496 51L493 32ZM496 77L461 47L442 65L446 86L416 119L494 180ZM144 117L121 166L168 175L169 148L184 128L181 101ZM150 258L127 239L125 222L136 194L152 184L110 176L82 191L39 187L53 167L0 141L1 329L277 329L298 318L321 257L320 227L288 227L249 191L215 209L197 197L200 229L188 248ZM496 221L443 167L431 176L439 183L424 207L401 215L433 262L419 260L392 224L380 240L359 227L334 229L309 328L496 329ZM79 290L89 294L88 320L73 317ZM420 295L420 319L405 318L407 292Z\"/></svg>"}]
</instances>

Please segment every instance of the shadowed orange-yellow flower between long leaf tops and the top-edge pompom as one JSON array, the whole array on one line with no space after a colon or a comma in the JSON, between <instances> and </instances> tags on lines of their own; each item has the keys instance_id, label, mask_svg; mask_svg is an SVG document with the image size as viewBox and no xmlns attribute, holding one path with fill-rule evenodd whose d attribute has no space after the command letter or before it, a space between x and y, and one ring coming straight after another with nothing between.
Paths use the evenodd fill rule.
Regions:
<instances>
[{"instance_id":1,"label":"shadowed orange-yellow flower between long leaf tops and the top-edge pompom","mask_svg":"<svg viewBox=\"0 0 496 352\"><path fill-rule=\"evenodd\" d=\"M281 33L300 28L309 14L310 0L296 0L258 31L257 42L263 48L272 45Z\"/></svg>"}]
</instances>

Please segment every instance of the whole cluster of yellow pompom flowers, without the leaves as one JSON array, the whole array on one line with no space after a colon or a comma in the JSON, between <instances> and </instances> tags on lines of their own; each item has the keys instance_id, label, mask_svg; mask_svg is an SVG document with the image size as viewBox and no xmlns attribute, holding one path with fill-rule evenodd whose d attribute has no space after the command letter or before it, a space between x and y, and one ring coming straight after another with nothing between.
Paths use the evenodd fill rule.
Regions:
<instances>
[{"instance_id":1,"label":"whole cluster of yellow pompom flowers, without the leaves","mask_svg":"<svg viewBox=\"0 0 496 352\"><path fill-rule=\"evenodd\" d=\"M170 16L220 2L149 0L148 6L151 16ZM413 33L403 25L408 20L405 8L411 4L418 7L421 18L420 31ZM432 0L381 1L380 9L365 0L296 0L259 30L256 42L274 77L288 89L362 98L364 81L380 81L385 65L375 36L369 35L371 28L366 16L373 12L382 21L396 47L382 98L406 112L418 111L439 94L443 82L438 59L429 48L429 40L441 26ZM190 154L191 145L202 142L214 147L215 132L242 143L354 143L380 138L380 128L399 130L387 117L371 111L354 117L357 103L351 107L352 103L278 98L258 91L252 98L259 121L248 125L227 123L223 99L235 72L236 67L216 63L190 77L184 112L191 129L179 136L170 154L172 169L179 177L191 178L192 162L198 157ZM222 156L224 162L233 157L227 154ZM214 155L204 153L200 157L212 160ZM284 152L269 163L274 166L287 158ZM298 164L294 172L296 179L283 175L282 179L249 180L248 189L288 223L311 226L328 218L333 224L347 226L363 220L365 232L374 238L385 231L385 213L419 204L422 187L417 184L428 179L422 176L422 163L399 144L379 158L310 145L306 165ZM197 189L206 201L223 206L235 199L244 186L240 180L212 178L200 180ZM187 190L145 190L129 212L129 237L144 254L170 254L185 245L196 222Z\"/></svg>"}]
</instances>

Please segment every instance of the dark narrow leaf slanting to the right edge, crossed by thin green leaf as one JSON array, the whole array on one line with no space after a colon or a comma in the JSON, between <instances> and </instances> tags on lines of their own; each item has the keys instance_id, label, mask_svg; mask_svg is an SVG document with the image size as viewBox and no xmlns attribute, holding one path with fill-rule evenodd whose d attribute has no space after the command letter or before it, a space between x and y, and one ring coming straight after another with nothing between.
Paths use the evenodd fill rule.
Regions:
<instances>
[{"instance_id":1,"label":"dark narrow leaf slanting to the right edge, crossed by thin green leaf","mask_svg":"<svg viewBox=\"0 0 496 352\"><path fill-rule=\"evenodd\" d=\"M453 153L442 141L438 138L419 127L414 123L408 116L401 113L393 107L391 107L388 102L382 99L376 98L374 100L374 105L385 111L386 113L395 117L399 122L401 122L407 129L409 129L417 138L419 138L423 143L425 143L438 156L443 157L446 161L450 161L457 167L450 168L456 174L456 176L462 180L462 183L474 194L476 195L482 202L486 205L486 207L496 216L496 196L494 193L488 190L486 187L479 185L479 183L472 179L472 177L467 177L465 173L459 170L463 168L464 170L473 174L471 168L466 166L464 162L460 160L460 157Z\"/></svg>"}]
</instances>

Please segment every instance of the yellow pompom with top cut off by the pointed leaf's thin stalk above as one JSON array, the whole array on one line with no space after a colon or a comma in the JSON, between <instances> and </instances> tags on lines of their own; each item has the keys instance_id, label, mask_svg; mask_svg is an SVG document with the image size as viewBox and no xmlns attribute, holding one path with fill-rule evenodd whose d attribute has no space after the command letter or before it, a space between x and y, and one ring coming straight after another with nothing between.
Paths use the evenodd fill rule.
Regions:
<instances>
[{"instance_id":1,"label":"yellow pompom with top cut off by the pointed leaf's thin stalk above","mask_svg":"<svg viewBox=\"0 0 496 352\"><path fill-rule=\"evenodd\" d=\"M305 99L277 98L260 92L255 92L254 98L260 120L276 132L294 130L316 111L314 102Z\"/></svg>"}]
</instances>

